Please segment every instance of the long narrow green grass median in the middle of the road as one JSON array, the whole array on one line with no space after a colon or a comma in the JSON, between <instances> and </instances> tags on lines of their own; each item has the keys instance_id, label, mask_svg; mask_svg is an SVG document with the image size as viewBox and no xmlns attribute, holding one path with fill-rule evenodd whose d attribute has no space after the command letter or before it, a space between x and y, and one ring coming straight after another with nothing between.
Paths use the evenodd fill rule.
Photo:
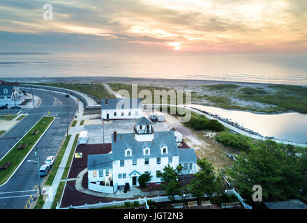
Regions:
<instances>
[{"instance_id":1,"label":"long narrow green grass median in the middle of the road","mask_svg":"<svg viewBox=\"0 0 307 223\"><path fill-rule=\"evenodd\" d=\"M54 117L40 118L40 121L38 121L38 123L36 123L36 125L34 125L24 137L22 137L22 139L10 150L10 152L3 157L3 159L0 161L0 166L5 162L12 162L12 164L10 164L8 169L0 171L0 185L5 183L10 175L13 174L20 162L22 162L24 157L29 153L29 151L31 151L34 144L36 144L38 139L42 136L43 132L45 132L50 123L52 123L53 119ZM38 130L38 134L31 134L31 132L34 130ZM17 149L22 144L27 144L27 146L22 150Z\"/></svg>"}]
</instances>

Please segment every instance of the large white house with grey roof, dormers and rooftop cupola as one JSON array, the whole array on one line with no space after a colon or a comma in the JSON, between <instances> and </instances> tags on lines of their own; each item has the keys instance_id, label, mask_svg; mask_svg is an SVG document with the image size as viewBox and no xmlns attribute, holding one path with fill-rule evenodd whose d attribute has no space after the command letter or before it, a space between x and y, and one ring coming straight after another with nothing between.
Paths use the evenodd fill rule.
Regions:
<instances>
[{"instance_id":1,"label":"large white house with grey roof, dormers and rooftop cupola","mask_svg":"<svg viewBox=\"0 0 307 223\"><path fill-rule=\"evenodd\" d=\"M137 179L149 173L152 176L150 184L160 183L157 174L167 164L173 168L183 165L183 174L197 171L195 151L193 148L179 149L174 131L155 132L151 121L144 117L135 121L134 130L133 133L114 131L112 153L89 155L89 190L110 193L126 183L130 187L139 186Z\"/></svg>"}]
</instances>

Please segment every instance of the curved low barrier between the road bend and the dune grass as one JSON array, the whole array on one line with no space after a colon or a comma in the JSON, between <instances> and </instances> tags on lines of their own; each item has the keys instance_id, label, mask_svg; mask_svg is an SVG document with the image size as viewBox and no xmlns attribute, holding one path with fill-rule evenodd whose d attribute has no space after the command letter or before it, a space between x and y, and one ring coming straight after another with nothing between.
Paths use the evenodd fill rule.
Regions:
<instances>
[{"instance_id":1,"label":"curved low barrier between the road bend and the dune grass","mask_svg":"<svg viewBox=\"0 0 307 223\"><path fill-rule=\"evenodd\" d=\"M78 93L77 91L70 90L70 89L62 89L55 86L45 86L45 85L36 85L36 84L20 84L21 87L24 88L32 88L32 89L45 89L50 91L59 91L63 93L69 93L70 95L75 96L75 98L80 99L83 102L84 109L97 109L100 108L99 106L89 106L87 99L82 96L82 94Z\"/></svg>"}]
</instances>

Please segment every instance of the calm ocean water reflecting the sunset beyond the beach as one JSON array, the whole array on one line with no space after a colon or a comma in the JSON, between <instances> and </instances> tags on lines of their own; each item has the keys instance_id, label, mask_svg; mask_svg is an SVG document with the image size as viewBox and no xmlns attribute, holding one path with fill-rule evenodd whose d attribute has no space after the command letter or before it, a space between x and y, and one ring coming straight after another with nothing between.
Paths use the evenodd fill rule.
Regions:
<instances>
[{"instance_id":1,"label":"calm ocean water reflecting the sunset beyond the beach","mask_svg":"<svg viewBox=\"0 0 307 223\"><path fill-rule=\"evenodd\" d=\"M304 54L0 55L0 77L110 76L307 86Z\"/></svg>"}]
</instances>

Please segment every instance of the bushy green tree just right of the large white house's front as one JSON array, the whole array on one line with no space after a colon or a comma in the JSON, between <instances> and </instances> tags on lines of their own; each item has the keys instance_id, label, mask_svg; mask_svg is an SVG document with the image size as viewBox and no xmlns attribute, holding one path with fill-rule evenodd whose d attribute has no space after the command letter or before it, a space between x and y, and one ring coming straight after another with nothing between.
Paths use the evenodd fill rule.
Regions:
<instances>
[{"instance_id":1,"label":"bushy green tree just right of the large white house's front","mask_svg":"<svg viewBox=\"0 0 307 223\"><path fill-rule=\"evenodd\" d=\"M188 188L190 194L200 202L204 194L211 197L214 193L218 192L222 181L219 177L216 177L213 165L206 158L197 160L197 165L201 170L194 174Z\"/></svg>"}]
</instances>

